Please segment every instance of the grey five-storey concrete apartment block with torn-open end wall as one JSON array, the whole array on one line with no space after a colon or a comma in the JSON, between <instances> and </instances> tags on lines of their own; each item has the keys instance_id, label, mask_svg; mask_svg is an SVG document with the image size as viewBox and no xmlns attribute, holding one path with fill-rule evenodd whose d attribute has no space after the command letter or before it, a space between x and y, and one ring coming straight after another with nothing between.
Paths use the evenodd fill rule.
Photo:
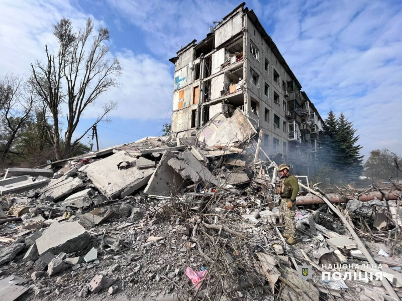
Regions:
<instances>
[{"instance_id":1,"label":"grey five-storey concrete apartment block with torn-open end wall","mask_svg":"<svg viewBox=\"0 0 402 301\"><path fill-rule=\"evenodd\" d=\"M282 153L284 161L309 165L322 129L320 114L255 13L244 6L170 59L172 133L193 136L217 113L231 116L240 107L263 130L268 155Z\"/></svg>"}]
</instances>

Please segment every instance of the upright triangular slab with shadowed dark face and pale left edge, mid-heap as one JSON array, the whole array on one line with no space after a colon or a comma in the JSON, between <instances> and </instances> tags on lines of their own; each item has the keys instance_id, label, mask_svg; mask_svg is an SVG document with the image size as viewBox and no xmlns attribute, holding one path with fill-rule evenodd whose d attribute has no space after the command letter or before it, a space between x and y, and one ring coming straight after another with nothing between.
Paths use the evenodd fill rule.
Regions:
<instances>
[{"instance_id":1,"label":"upright triangular slab with shadowed dark face and pale left edge, mid-heap","mask_svg":"<svg viewBox=\"0 0 402 301\"><path fill-rule=\"evenodd\" d=\"M167 164L173 157L173 153L168 150L165 151L144 193L148 195L169 196L170 193L177 193L185 186L186 181Z\"/></svg>"}]
</instances>

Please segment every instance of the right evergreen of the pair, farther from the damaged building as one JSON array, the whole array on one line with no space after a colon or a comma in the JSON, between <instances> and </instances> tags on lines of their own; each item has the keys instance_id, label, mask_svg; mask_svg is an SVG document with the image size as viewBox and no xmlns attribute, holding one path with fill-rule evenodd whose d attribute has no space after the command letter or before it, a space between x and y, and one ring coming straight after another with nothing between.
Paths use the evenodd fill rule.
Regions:
<instances>
[{"instance_id":1,"label":"right evergreen of the pair, farther from the damaged building","mask_svg":"<svg viewBox=\"0 0 402 301\"><path fill-rule=\"evenodd\" d=\"M336 133L336 144L338 147L338 166L344 176L354 180L361 176L363 171L363 156L360 156L362 146L357 145L359 136L355 136L356 129L353 123L341 113L338 118L338 130Z\"/></svg>"}]
</instances>

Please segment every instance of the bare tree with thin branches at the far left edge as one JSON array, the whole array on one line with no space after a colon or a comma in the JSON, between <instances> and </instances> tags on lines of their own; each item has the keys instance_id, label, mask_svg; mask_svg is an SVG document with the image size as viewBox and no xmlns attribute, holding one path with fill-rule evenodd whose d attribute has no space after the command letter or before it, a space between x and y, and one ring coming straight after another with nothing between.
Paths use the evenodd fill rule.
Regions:
<instances>
[{"instance_id":1,"label":"bare tree with thin branches at the far left edge","mask_svg":"<svg viewBox=\"0 0 402 301\"><path fill-rule=\"evenodd\" d=\"M15 75L0 77L0 162L7 154L23 126L30 120L34 106L33 91Z\"/></svg>"}]
</instances>

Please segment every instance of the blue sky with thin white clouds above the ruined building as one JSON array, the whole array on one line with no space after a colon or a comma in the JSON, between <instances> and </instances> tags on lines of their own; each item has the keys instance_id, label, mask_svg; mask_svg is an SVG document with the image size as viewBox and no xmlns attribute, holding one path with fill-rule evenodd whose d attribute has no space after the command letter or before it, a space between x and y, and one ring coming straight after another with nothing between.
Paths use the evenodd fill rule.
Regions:
<instances>
[{"instance_id":1,"label":"blue sky with thin white clouds above the ruined building","mask_svg":"<svg viewBox=\"0 0 402 301\"><path fill-rule=\"evenodd\" d=\"M171 116L173 64L168 59L202 40L240 2L32 0L0 3L0 74L28 75L30 63L55 49L52 25L87 18L110 30L123 67L119 89L90 107L77 134L102 104L119 103L99 124L103 147L158 135ZM267 33L323 118L330 109L354 122L362 154L388 148L402 156L402 3L398 1L251 1ZM7 58L7 59L4 59ZM87 142L88 139L84 139ZM367 158L367 157L366 157Z\"/></svg>"}]
</instances>

